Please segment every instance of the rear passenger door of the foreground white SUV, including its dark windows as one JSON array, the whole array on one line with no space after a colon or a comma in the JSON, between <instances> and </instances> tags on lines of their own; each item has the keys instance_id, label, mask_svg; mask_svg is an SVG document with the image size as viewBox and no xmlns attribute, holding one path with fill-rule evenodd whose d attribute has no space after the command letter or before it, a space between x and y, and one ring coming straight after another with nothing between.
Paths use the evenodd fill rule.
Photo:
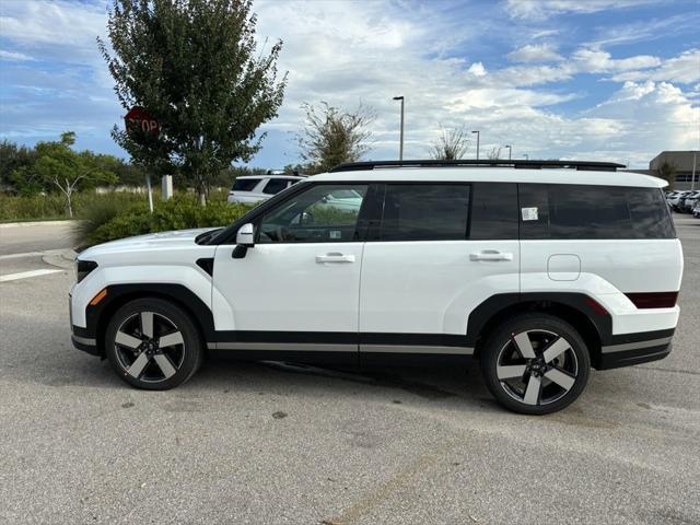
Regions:
<instances>
[{"instance_id":1,"label":"rear passenger door of the foreground white SUV, including its dark windows","mask_svg":"<svg viewBox=\"0 0 700 525\"><path fill-rule=\"evenodd\" d=\"M384 191L362 261L361 355L472 353L469 313L518 292L515 185L387 184Z\"/></svg>"}]
</instances>

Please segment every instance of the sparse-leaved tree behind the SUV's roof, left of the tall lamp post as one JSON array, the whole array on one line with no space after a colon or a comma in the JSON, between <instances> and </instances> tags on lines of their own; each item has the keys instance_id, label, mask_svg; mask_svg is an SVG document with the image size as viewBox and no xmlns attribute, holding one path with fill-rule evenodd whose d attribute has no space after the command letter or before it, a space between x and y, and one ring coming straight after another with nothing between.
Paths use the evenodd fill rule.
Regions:
<instances>
[{"instance_id":1,"label":"sparse-leaved tree behind the SUV's roof, left of the tall lamp post","mask_svg":"<svg viewBox=\"0 0 700 525\"><path fill-rule=\"evenodd\" d=\"M375 119L372 108L360 104L354 112L343 112L326 102L320 107L304 103L306 124L296 140L307 173L327 172L343 162L357 162L370 150Z\"/></svg>"}]
</instances>

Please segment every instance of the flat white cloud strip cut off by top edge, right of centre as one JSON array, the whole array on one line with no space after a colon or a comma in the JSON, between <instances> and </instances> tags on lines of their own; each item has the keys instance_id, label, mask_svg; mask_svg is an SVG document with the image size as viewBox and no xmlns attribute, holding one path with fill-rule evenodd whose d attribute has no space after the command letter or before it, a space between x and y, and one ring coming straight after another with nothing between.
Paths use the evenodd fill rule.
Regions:
<instances>
[{"instance_id":1,"label":"flat white cloud strip cut off by top edge, right of centre","mask_svg":"<svg viewBox=\"0 0 700 525\"><path fill-rule=\"evenodd\" d=\"M508 0L514 19L545 20L562 13L595 13L611 9L634 8L662 0Z\"/></svg>"}]
</instances>

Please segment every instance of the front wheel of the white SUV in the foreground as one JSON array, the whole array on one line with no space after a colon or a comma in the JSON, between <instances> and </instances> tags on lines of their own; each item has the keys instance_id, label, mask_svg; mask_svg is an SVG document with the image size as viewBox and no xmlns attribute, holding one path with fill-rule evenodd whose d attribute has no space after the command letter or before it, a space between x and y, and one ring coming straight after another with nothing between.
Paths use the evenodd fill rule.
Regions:
<instances>
[{"instance_id":1,"label":"front wheel of the white SUV in the foreground","mask_svg":"<svg viewBox=\"0 0 700 525\"><path fill-rule=\"evenodd\" d=\"M131 301L114 314L105 332L105 353L126 383L166 390L199 370L203 348L186 312L162 299L148 298Z\"/></svg>"}]
</instances>

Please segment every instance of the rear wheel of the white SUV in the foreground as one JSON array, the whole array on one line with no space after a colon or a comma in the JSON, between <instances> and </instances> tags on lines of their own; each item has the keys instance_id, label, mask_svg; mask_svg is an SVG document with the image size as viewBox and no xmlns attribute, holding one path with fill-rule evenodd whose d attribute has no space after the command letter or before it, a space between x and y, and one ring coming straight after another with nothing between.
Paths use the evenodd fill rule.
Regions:
<instances>
[{"instance_id":1,"label":"rear wheel of the white SUV in the foreground","mask_svg":"<svg viewBox=\"0 0 700 525\"><path fill-rule=\"evenodd\" d=\"M522 314L498 326L480 357L493 397L520 413L545 415L568 407L581 395L591 373L581 335L547 314Z\"/></svg>"}]
</instances>

